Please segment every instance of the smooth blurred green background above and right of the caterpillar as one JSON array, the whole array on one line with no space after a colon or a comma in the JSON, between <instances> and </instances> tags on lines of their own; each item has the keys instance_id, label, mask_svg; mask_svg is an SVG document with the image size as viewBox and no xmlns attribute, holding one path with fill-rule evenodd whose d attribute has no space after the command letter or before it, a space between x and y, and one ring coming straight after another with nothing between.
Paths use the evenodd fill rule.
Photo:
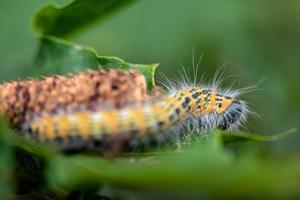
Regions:
<instances>
[{"instance_id":1,"label":"smooth blurred green background above and right of the caterpillar","mask_svg":"<svg viewBox=\"0 0 300 200\"><path fill-rule=\"evenodd\" d=\"M29 21L47 2L53 1L0 2L1 80L29 74L38 48ZM191 68L194 49L196 60L204 55L200 74L225 64L233 75L226 83L236 82L237 88L264 79L258 91L245 96L260 115L249 119L250 132L300 128L299 1L142 0L68 39L94 47L100 55L160 63L159 71L168 77L176 77L181 64ZM274 144L276 149L294 150L298 135Z\"/></svg>"}]
</instances>

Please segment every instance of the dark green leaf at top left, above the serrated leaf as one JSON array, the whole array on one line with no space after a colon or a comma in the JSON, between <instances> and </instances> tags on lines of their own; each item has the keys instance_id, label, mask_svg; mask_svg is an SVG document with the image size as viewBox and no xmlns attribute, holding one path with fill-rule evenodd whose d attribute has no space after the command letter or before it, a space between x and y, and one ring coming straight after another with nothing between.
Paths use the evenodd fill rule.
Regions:
<instances>
[{"instance_id":1,"label":"dark green leaf at top left, above the serrated leaf","mask_svg":"<svg viewBox=\"0 0 300 200\"><path fill-rule=\"evenodd\" d=\"M101 20L134 0L73 0L65 6L49 4L33 17L38 35L64 36Z\"/></svg>"}]
</instances>

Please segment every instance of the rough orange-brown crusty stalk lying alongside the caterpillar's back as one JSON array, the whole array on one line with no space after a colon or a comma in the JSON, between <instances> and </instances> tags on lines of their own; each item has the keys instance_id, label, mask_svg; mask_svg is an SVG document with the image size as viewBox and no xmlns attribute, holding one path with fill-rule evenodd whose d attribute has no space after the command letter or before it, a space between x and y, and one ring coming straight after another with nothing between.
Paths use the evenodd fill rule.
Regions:
<instances>
[{"instance_id":1,"label":"rough orange-brown crusty stalk lying alongside the caterpillar's back","mask_svg":"<svg viewBox=\"0 0 300 200\"><path fill-rule=\"evenodd\" d=\"M101 105L121 108L147 99L145 78L135 70L87 70L0 85L0 113L15 128L42 113L95 110Z\"/></svg>"}]
</instances>

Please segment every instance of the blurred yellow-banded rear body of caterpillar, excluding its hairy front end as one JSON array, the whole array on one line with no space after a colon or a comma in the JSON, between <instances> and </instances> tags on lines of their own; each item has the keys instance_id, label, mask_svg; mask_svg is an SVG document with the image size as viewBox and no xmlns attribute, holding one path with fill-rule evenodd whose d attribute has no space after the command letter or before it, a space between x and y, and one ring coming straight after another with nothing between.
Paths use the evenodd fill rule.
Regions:
<instances>
[{"instance_id":1,"label":"blurred yellow-banded rear body of caterpillar, excluding its hairy front end","mask_svg":"<svg viewBox=\"0 0 300 200\"><path fill-rule=\"evenodd\" d=\"M172 99L143 107L128 107L106 111L86 111L56 115L45 115L34 120L29 129L38 140L63 139L78 136L83 140L90 136L101 138L102 135L138 134L162 132L179 121L186 111L176 110Z\"/></svg>"}]
</instances>

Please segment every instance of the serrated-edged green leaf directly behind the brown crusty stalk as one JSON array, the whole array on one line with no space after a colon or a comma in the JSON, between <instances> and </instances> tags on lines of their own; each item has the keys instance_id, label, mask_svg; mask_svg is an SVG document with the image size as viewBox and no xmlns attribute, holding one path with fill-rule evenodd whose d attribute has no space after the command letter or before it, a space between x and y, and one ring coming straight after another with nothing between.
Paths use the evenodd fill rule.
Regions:
<instances>
[{"instance_id":1,"label":"serrated-edged green leaf directly behind the brown crusty stalk","mask_svg":"<svg viewBox=\"0 0 300 200\"><path fill-rule=\"evenodd\" d=\"M117 57L100 56L95 49L53 36L40 40L40 47L34 61L36 75L67 74L87 68L135 69L141 72L147 81L148 89L155 86L154 74L158 64L131 64Z\"/></svg>"}]
</instances>

